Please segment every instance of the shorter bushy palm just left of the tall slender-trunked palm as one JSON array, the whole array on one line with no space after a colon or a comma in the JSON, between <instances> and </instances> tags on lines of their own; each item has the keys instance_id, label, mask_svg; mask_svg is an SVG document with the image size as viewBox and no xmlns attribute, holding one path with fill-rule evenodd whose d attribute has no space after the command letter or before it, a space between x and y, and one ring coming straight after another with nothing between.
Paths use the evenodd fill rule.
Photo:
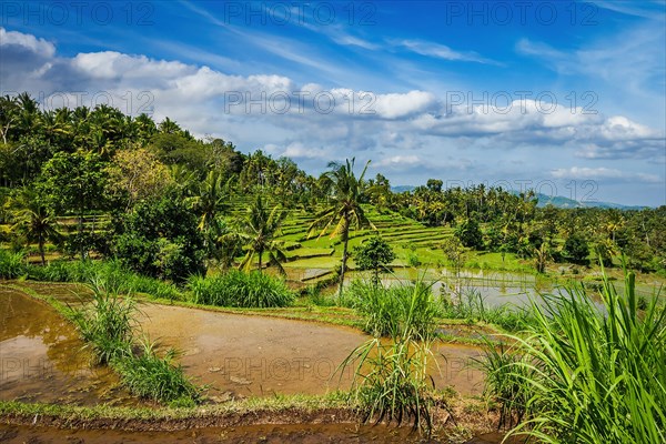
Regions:
<instances>
[{"instance_id":1,"label":"shorter bushy palm just left of the tall slender-trunked palm","mask_svg":"<svg viewBox=\"0 0 666 444\"><path fill-rule=\"evenodd\" d=\"M284 242L275 239L284 218L286 218L286 212L280 205L269 211L264 206L261 195L256 196L254 203L248 208L248 213L240 223L240 230L233 234L245 243L243 249L248 252L239 269L250 270L254 256L256 256L261 272L263 254L268 253L269 265L275 265L281 274L286 274L282 266L282 262L286 261L283 251Z\"/></svg>"}]
</instances>

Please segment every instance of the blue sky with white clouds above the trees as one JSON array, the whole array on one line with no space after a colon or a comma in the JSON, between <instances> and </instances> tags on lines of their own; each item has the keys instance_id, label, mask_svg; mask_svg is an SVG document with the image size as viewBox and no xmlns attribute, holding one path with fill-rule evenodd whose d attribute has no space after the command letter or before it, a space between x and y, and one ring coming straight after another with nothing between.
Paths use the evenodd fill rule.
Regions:
<instances>
[{"instance_id":1,"label":"blue sky with white clouds above the trees","mask_svg":"<svg viewBox=\"0 0 666 444\"><path fill-rule=\"evenodd\" d=\"M165 115L311 173L666 203L666 2L3 2L2 93Z\"/></svg>"}]
</instances>

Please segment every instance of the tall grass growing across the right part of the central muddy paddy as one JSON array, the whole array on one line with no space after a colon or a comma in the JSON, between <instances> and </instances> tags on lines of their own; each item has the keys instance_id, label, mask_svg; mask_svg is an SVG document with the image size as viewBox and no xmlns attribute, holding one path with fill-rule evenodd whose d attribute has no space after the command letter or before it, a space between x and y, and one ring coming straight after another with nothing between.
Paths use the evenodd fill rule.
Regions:
<instances>
[{"instance_id":1,"label":"tall grass growing across the right part of the central muddy paddy","mask_svg":"<svg viewBox=\"0 0 666 444\"><path fill-rule=\"evenodd\" d=\"M437 404L427 375L436 326L430 286L422 281L391 289L357 283L353 291L366 315L366 330L375 337L352 351L339 371L354 369L351 396L361 406L364 422L408 421L430 433Z\"/></svg>"}]
</instances>

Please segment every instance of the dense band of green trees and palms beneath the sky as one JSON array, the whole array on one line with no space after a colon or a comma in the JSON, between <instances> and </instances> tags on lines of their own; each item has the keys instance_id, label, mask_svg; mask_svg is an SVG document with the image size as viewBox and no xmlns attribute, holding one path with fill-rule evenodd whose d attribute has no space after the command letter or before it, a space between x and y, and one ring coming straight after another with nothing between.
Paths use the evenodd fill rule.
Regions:
<instances>
[{"instance_id":1,"label":"dense band of green trees and palms beneath the sky","mask_svg":"<svg viewBox=\"0 0 666 444\"><path fill-rule=\"evenodd\" d=\"M261 268L265 260L282 270L280 226L289 210L305 209L316 214L311 234L340 235L344 275L349 232L373 228L365 209L374 205L453 226L463 248L515 253L537 269L594 255L612 265L619 253L633 268L666 269L666 206L538 208L531 191L444 190L436 179L394 193L384 175L366 179L365 169L357 174L353 161L334 162L313 176L287 158L198 139L169 118L158 123L108 105L46 111L27 93L0 98L0 222L8 226L0 236L14 249L37 244L42 262L54 244L174 282L213 263ZM246 211L232 208L239 205Z\"/></svg>"}]
</instances>

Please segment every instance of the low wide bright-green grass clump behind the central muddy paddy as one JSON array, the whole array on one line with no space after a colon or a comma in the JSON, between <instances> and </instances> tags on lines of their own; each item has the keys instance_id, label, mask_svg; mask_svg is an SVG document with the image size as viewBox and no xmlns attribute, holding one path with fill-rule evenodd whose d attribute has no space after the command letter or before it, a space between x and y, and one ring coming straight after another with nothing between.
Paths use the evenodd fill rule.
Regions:
<instances>
[{"instance_id":1,"label":"low wide bright-green grass clump behind the central muddy paddy","mask_svg":"<svg viewBox=\"0 0 666 444\"><path fill-rule=\"evenodd\" d=\"M263 309L287 306L295 297L283 280L239 270L212 278L192 276L188 287L190 301L205 305Z\"/></svg>"}]
</instances>

